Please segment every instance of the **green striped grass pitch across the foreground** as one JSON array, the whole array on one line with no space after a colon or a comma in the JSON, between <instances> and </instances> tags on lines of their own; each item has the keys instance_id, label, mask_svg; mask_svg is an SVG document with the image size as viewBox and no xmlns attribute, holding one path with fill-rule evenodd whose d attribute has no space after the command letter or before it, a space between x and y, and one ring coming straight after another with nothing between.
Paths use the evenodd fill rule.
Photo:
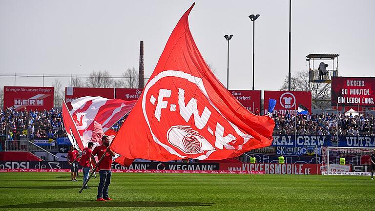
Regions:
<instances>
[{"instance_id":1,"label":"green striped grass pitch across the foreground","mask_svg":"<svg viewBox=\"0 0 375 211\"><path fill-rule=\"evenodd\" d=\"M366 211L375 207L368 176L113 173L97 202L98 178L78 190L70 173L0 173L0 211Z\"/></svg>"}]
</instances>

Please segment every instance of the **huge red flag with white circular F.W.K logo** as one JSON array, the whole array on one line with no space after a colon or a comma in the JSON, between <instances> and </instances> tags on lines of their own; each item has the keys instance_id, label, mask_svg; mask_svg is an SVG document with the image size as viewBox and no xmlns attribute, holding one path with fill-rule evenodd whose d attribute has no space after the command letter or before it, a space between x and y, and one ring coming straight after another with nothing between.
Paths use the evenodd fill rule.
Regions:
<instances>
[{"instance_id":1,"label":"huge red flag with white circular F.W.K logo","mask_svg":"<svg viewBox=\"0 0 375 211\"><path fill-rule=\"evenodd\" d=\"M187 21L193 6L113 140L114 151L127 158L217 160L271 145L273 120L234 99L199 53Z\"/></svg>"}]
</instances>

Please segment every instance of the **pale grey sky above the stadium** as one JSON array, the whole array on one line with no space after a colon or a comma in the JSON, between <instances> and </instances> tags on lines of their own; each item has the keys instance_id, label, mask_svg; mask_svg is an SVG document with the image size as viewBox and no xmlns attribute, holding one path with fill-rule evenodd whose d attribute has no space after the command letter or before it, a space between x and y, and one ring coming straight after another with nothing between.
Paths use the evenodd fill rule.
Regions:
<instances>
[{"instance_id":1,"label":"pale grey sky above the stadium","mask_svg":"<svg viewBox=\"0 0 375 211\"><path fill-rule=\"evenodd\" d=\"M120 76L139 66L145 76L158 62L191 0L0 0L0 75ZM278 90L288 75L288 0L196 0L189 15L193 38L215 75L229 89L252 88L255 21L255 89ZM308 71L310 53L340 54L339 76L374 77L374 0L292 0L292 74ZM329 63L328 69L331 67ZM16 78L20 86L50 86L55 78ZM69 86L69 78L60 78ZM14 85L0 76L0 87Z\"/></svg>"}]
</instances>

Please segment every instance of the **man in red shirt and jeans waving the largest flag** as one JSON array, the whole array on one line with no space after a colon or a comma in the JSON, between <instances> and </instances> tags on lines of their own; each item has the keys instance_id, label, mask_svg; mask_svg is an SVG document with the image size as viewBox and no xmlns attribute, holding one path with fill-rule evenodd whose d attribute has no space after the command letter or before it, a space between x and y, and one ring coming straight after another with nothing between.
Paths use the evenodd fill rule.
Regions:
<instances>
[{"instance_id":1,"label":"man in red shirt and jeans waving the largest flag","mask_svg":"<svg viewBox=\"0 0 375 211\"><path fill-rule=\"evenodd\" d=\"M108 149L107 153L104 152L109 146L109 137L103 136L102 137L102 145L94 148L94 150L91 153L91 159L95 163L95 166L99 169L99 176L100 176L100 182L98 186L98 195L97 195L97 201L112 201L111 198L108 197L108 186L111 183L111 166L112 166L112 157L116 156L115 153ZM97 163L95 161L95 155L98 156L100 159L103 155L104 158L101 163Z\"/></svg>"}]
</instances>

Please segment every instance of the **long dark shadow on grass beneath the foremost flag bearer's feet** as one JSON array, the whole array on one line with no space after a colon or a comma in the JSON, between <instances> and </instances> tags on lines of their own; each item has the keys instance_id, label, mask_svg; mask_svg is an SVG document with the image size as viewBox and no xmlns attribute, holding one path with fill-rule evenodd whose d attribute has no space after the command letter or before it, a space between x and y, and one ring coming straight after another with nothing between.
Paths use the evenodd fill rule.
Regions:
<instances>
[{"instance_id":1,"label":"long dark shadow on grass beneath the foremost flag bearer's feet","mask_svg":"<svg viewBox=\"0 0 375 211\"><path fill-rule=\"evenodd\" d=\"M93 208L93 207L199 207L211 206L215 203L204 202L163 202L163 201L111 201L111 202L97 202L97 201L53 201L41 203L29 203L18 205L4 205L3 208Z\"/></svg>"}]
</instances>

